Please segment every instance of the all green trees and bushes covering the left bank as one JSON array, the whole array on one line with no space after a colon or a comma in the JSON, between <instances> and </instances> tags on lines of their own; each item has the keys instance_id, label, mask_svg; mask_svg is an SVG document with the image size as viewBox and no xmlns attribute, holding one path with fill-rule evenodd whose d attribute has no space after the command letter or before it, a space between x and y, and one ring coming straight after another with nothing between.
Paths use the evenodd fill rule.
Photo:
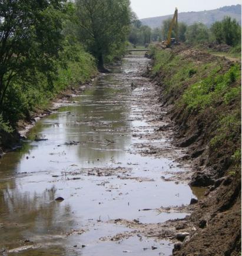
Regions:
<instances>
[{"instance_id":1,"label":"all green trees and bushes covering the left bank","mask_svg":"<svg viewBox=\"0 0 242 256\"><path fill-rule=\"evenodd\" d=\"M130 24L129 5L128 0L4 0L0 133L13 132L20 119L29 120L62 90L84 83L97 74L98 66L120 58Z\"/></svg>"}]
</instances>

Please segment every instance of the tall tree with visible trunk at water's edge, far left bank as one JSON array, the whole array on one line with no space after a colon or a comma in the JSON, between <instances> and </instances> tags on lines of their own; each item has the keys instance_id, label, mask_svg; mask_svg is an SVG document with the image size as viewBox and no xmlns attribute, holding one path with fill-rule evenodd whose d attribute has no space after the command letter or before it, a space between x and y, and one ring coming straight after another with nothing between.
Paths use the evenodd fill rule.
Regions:
<instances>
[{"instance_id":1,"label":"tall tree with visible trunk at water's edge, far left bank","mask_svg":"<svg viewBox=\"0 0 242 256\"><path fill-rule=\"evenodd\" d=\"M105 71L104 60L124 47L130 28L129 0L77 0L77 34Z\"/></svg>"}]
</instances>

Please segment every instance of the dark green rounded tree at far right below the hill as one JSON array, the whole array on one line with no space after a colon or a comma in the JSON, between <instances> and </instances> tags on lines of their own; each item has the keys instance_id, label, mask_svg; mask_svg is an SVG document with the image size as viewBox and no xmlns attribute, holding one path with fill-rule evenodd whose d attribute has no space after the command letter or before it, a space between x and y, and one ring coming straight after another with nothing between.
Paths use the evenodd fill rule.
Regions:
<instances>
[{"instance_id":1,"label":"dark green rounded tree at far right below the hill","mask_svg":"<svg viewBox=\"0 0 242 256\"><path fill-rule=\"evenodd\" d=\"M236 19L231 17L224 17L222 21L215 22L211 31L218 44L223 42L235 46L241 41L241 27Z\"/></svg>"}]
</instances>

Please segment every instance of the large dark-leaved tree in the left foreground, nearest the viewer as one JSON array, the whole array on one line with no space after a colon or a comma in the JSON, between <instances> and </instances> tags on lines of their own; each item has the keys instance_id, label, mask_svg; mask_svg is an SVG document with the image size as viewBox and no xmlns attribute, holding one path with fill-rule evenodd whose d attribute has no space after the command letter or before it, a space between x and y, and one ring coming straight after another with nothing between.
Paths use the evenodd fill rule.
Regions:
<instances>
[{"instance_id":1,"label":"large dark-leaved tree in the left foreground, nearest the viewer","mask_svg":"<svg viewBox=\"0 0 242 256\"><path fill-rule=\"evenodd\" d=\"M31 83L41 72L52 86L64 40L62 21L69 6L62 0L1 1L0 112L8 111L6 94L13 97L21 90L14 81Z\"/></svg>"}]
</instances>

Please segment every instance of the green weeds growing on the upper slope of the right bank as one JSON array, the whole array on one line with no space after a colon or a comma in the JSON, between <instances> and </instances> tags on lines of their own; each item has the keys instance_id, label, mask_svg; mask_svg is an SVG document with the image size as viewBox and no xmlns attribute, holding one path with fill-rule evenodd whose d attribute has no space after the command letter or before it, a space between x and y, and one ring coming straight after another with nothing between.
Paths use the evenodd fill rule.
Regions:
<instances>
[{"instance_id":1,"label":"green weeds growing on the upper slope of the right bank","mask_svg":"<svg viewBox=\"0 0 242 256\"><path fill-rule=\"evenodd\" d=\"M212 151L230 151L230 175L235 175L241 165L241 65L235 63L224 71L219 60L198 62L157 48L151 49L151 57L152 74L162 75L163 93L176 96L175 108L213 113L214 129L207 134L208 146Z\"/></svg>"}]
</instances>

